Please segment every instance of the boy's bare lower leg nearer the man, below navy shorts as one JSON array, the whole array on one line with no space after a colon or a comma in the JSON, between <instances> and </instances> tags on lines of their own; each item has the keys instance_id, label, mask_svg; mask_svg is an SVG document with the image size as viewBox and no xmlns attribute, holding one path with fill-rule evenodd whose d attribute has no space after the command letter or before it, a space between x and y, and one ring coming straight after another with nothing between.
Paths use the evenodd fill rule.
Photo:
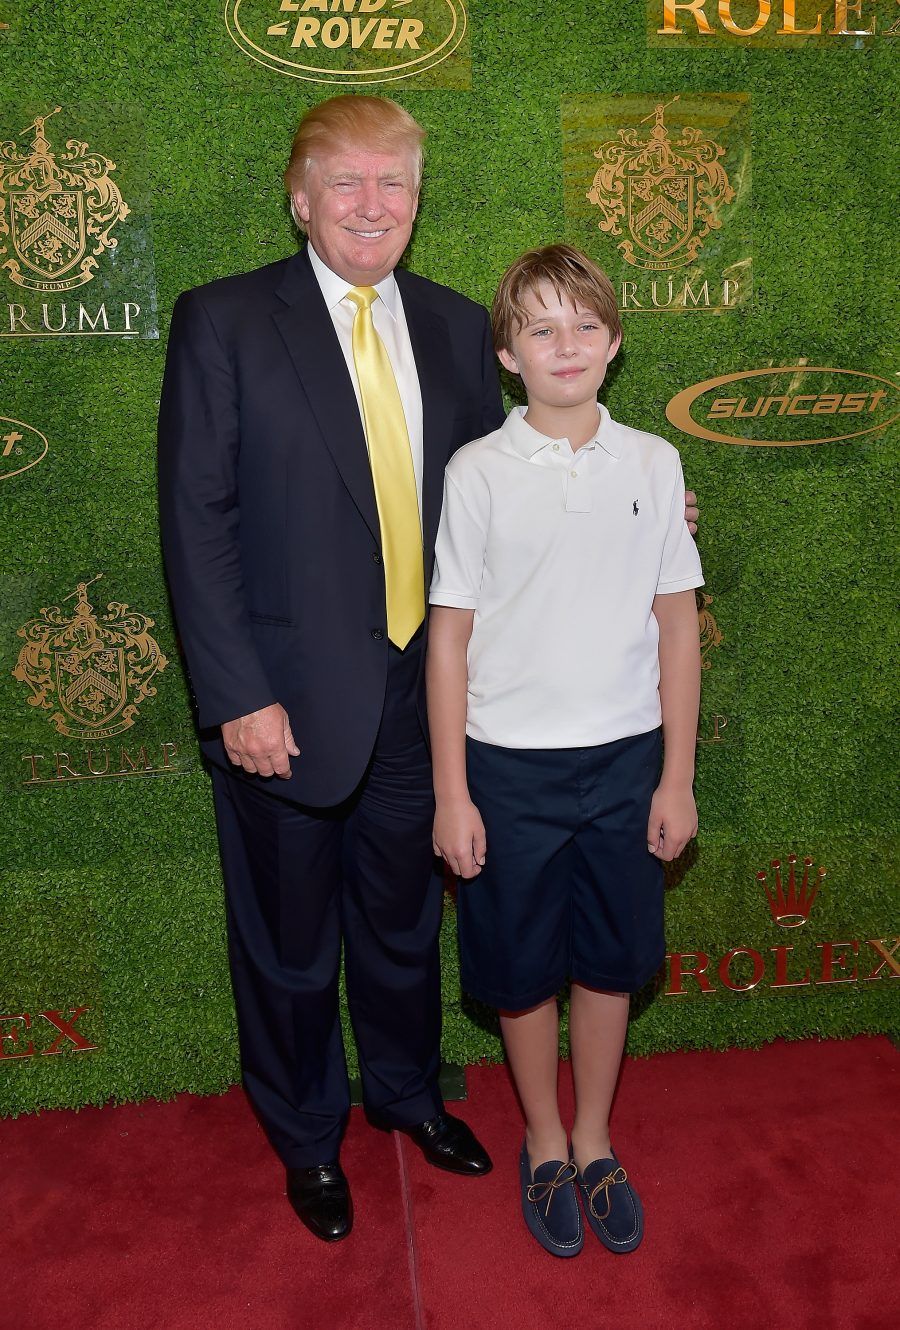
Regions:
<instances>
[{"instance_id":1,"label":"boy's bare lower leg nearer the man, below navy shorts","mask_svg":"<svg viewBox=\"0 0 900 1330\"><path fill-rule=\"evenodd\" d=\"M549 1160L568 1160L569 1141L560 1117L560 1013L556 998L522 1012L500 1012L509 1068L525 1113L525 1142L532 1173Z\"/></svg>"}]
</instances>

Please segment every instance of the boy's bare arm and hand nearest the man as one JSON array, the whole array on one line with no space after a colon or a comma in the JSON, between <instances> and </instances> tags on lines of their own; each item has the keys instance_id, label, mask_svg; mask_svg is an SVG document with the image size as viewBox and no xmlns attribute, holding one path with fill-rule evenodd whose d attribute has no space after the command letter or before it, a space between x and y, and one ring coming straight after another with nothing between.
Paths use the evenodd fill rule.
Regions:
<instances>
[{"instance_id":1,"label":"boy's bare arm and hand nearest the man","mask_svg":"<svg viewBox=\"0 0 900 1330\"><path fill-rule=\"evenodd\" d=\"M484 823L465 779L467 648L473 609L432 605L428 621L428 732L435 774L435 854L460 878L481 872Z\"/></svg>"}]
</instances>

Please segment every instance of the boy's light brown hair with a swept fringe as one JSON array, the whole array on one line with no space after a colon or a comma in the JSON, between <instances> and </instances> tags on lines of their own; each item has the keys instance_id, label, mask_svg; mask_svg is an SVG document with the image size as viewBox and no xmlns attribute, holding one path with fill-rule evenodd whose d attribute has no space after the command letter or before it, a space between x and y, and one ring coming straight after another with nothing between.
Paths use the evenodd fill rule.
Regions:
<instances>
[{"instance_id":1,"label":"boy's light brown hair with a swept fringe","mask_svg":"<svg viewBox=\"0 0 900 1330\"><path fill-rule=\"evenodd\" d=\"M538 294L541 282L549 282L561 301L593 310L610 338L621 336L616 291L602 267L573 245L544 245L521 254L500 278L491 306L495 350L510 350L513 336L528 322L525 299Z\"/></svg>"}]
</instances>

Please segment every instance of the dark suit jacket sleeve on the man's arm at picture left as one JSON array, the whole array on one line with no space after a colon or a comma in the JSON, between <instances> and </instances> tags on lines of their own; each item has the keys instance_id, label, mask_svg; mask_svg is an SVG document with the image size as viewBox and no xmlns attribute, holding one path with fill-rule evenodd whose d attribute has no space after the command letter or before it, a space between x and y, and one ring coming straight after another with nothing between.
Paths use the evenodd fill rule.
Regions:
<instances>
[{"instance_id":1,"label":"dark suit jacket sleeve on the man's arm at picture left","mask_svg":"<svg viewBox=\"0 0 900 1330\"><path fill-rule=\"evenodd\" d=\"M254 645L238 543L238 384L202 303L175 303L158 432L162 552L201 728L277 701Z\"/></svg>"}]
</instances>

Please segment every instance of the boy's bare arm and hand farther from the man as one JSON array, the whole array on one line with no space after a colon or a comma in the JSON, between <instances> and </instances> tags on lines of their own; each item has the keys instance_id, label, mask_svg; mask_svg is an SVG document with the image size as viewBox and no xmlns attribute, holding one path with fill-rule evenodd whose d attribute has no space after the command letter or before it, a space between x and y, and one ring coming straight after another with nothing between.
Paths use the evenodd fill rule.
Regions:
<instances>
[{"instance_id":1,"label":"boy's bare arm and hand farther from the man","mask_svg":"<svg viewBox=\"0 0 900 1330\"><path fill-rule=\"evenodd\" d=\"M647 850L677 859L697 835L694 755L701 705L701 637L694 591L657 596L659 625L659 702L662 705L662 777L650 805Z\"/></svg>"}]
</instances>

